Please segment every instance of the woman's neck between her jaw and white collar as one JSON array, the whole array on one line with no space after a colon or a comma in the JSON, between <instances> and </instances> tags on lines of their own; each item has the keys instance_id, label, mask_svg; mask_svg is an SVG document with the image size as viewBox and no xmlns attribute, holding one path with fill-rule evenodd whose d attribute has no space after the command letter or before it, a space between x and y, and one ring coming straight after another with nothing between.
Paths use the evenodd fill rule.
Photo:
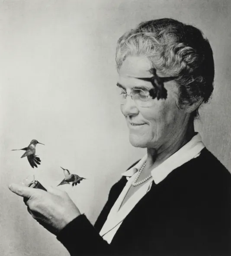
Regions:
<instances>
[{"instance_id":1,"label":"woman's neck between her jaw and white collar","mask_svg":"<svg viewBox=\"0 0 231 256\"><path fill-rule=\"evenodd\" d=\"M176 151L188 143L195 135L194 124L191 123L186 130L181 130L179 134L173 137L169 143L158 149L147 149L146 169L153 169L172 156Z\"/></svg>"}]
</instances>

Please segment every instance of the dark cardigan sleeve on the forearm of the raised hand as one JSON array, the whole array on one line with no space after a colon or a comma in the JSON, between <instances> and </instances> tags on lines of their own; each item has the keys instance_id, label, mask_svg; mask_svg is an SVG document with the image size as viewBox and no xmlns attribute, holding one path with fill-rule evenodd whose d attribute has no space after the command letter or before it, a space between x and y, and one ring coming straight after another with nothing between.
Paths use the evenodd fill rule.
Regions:
<instances>
[{"instance_id":1,"label":"dark cardigan sleeve on the forearm of the raised hand","mask_svg":"<svg viewBox=\"0 0 231 256\"><path fill-rule=\"evenodd\" d=\"M103 240L84 214L67 224L57 239L71 256L113 255L111 246Z\"/></svg>"}]
</instances>

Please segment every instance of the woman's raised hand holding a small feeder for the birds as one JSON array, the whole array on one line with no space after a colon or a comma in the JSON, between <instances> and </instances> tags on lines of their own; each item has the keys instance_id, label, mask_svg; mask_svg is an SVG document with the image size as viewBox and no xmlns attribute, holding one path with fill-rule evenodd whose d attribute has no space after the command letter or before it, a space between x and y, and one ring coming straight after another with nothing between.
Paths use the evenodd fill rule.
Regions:
<instances>
[{"instance_id":1,"label":"woman's raised hand holding a small feeder for the birds","mask_svg":"<svg viewBox=\"0 0 231 256\"><path fill-rule=\"evenodd\" d=\"M58 235L71 220L80 215L67 192L50 187L47 191L11 184L10 190L24 197L29 213L51 233Z\"/></svg>"}]
</instances>

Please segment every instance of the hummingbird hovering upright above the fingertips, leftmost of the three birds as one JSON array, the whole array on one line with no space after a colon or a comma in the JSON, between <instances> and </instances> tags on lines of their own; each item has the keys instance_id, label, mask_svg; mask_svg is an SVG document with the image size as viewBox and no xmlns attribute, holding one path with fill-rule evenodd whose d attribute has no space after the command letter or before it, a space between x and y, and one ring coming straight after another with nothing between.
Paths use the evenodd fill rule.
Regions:
<instances>
[{"instance_id":1,"label":"hummingbird hovering upright above the fingertips, leftmost of the three birds","mask_svg":"<svg viewBox=\"0 0 231 256\"><path fill-rule=\"evenodd\" d=\"M34 166L37 168L37 165L40 165L40 158L38 156L35 156L35 146L37 144L42 144L40 142L38 142L38 140L36 139L32 139L32 141L30 142L29 146L27 146L26 148L23 149L12 149L13 150L26 150L26 152L21 156L21 158L27 156L27 159L29 161L29 164L31 165L32 168L34 168ZM42 144L44 145L44 144Z\"/></svg>"}]
</instances>

